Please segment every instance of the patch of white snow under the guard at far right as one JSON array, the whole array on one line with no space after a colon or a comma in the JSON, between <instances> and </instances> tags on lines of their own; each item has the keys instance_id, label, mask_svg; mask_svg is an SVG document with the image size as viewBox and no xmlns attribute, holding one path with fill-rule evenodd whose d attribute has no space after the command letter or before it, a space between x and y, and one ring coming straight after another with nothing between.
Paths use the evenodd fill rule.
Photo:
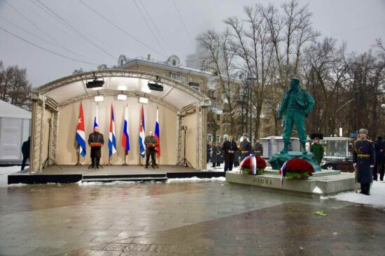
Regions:
<instances>
[{"instance_id":1,"label":"patch of white snow under the guard at far right","mask_svg":"<svg viewBox=\"0 0 385 256\"><path fill-rule=\"evenodd\" d=\"M360 192L360 185L358 185L358 192ZM374 207L385 207L385 181L373 181L370 187L370 196L356 192L342 192L335 196L322 197L322 199L336 199Z\"/></svg>"}]
</instances>

